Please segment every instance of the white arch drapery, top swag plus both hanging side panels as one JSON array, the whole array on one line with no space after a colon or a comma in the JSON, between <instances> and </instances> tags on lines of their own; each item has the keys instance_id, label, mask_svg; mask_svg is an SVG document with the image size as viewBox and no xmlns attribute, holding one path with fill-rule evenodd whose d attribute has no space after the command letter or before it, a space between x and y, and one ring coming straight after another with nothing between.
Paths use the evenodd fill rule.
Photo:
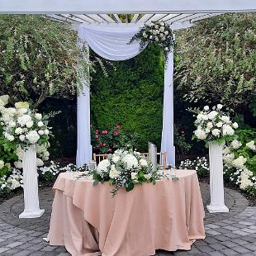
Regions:
<instances>
[{"instance_id":1,"label":"white arch drapery, top swag plus both hanging side panels","mask_svg":"<svg viewBox=\"0 0 256 256\"><path fill-rule=\"evenodd\" d=\"M109 60L126 60L140 54L140 41L129 44L138 31L138 24L84 25L78 27L78 37L86 41L97 55ZM161 150L167 152L167 164L174 165L173 152L173 54L169 55L168 67L164 73L164 119ZM78 96L78 151L77 165L88 164L92 159L90 140L90 97L89 86ZM170 109L171 108L171 109Z\"/></svg>"}]
</instances>

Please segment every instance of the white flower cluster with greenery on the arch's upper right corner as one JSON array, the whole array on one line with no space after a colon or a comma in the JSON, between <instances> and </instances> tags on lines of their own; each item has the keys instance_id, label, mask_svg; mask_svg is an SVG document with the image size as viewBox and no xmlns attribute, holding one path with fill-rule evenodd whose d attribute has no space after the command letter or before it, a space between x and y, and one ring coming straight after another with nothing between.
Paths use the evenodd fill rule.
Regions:
<instances>
[{"instance_id":1,"label":"white flower cluster with greenery on the arch's upper right corner","mask_svg":"<svg viewBox=\"0 0 256 256\"><path fill-rule=\"evenodd\" d=\"M159 45L166 58L168 53L173 49L174 44L173 31L164 21L151 21L149 25L145 24L145 26L131 38L130 43L134 40L140 40L141 50L148 44Z\"/></svg>"}]
</instances>

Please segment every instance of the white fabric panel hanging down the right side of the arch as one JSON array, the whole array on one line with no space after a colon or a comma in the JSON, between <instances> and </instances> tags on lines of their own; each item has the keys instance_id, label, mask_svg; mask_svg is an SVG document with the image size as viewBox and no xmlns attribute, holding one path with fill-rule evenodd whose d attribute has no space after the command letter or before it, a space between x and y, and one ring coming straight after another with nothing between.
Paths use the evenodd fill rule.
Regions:
<instances>
[{"instance_id":1,"label":"white fabric panel hanging down the right side of the arch","mask_svg":"<svg viewBox=\"0 0 256 256\"><path fill-rule=\"evenodd\" d=\"M164 70L164 110L161 152L167 153L166 164L175 167L175 147L173 144L173 51L168 54Z\"/></svg>"}]
</instances>

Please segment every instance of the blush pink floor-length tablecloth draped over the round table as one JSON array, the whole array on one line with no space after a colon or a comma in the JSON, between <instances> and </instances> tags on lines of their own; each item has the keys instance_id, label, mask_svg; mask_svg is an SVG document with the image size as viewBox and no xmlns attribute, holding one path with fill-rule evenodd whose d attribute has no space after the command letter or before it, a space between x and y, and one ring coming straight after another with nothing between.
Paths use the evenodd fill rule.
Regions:
<instances>
[{"instance_id":1,"label":"blush pink floor-length tablecloth draped over the round table","mask_svg":"<svg viewBox=\"0 0 256 256\"><path fill-rule=\"evenodd\" d=\"M107 183L92 185L78 173L61 173L54 190L48 240L73 256L146 256L155 249L189 250L204 239L205 212L197 173L178 170L178 181L120 189L111 198Z\"/></svg>"}]
</instances>

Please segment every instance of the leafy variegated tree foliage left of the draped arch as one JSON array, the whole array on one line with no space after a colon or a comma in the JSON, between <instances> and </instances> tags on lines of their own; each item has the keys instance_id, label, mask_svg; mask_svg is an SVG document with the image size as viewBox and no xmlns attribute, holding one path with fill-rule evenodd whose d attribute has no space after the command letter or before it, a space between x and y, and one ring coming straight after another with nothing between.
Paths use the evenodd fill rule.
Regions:
<instances>
[{"instance_id":1,"label":"leafy variegated tree foliage left of the draped arch","mask_svg":"<svg viewBox=\"0 0 256 256\"><path fill-rule=\"evenodd\" d=\"M75 34L38 15L1 15L0 52L0 92L12 102L29 98L37 107L46 97L70 97L78 73L87 73Z\"/></svg>"}]
</instances>

